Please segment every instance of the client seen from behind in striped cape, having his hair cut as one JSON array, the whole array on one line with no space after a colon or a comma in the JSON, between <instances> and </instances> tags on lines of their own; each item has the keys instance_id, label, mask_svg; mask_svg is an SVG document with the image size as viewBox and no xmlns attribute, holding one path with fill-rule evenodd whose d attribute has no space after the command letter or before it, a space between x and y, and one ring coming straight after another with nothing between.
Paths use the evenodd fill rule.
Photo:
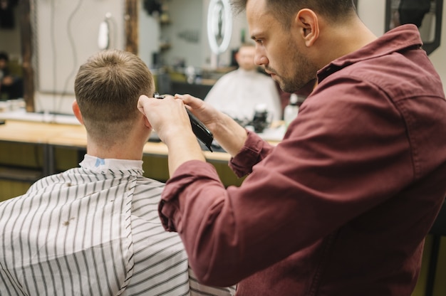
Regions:
<instances>
[{"instance_id":1,"label":"client seen from behind in striped cape, having his hair cut","mask_svg":"<svg viewBox=\"0 0 446 296\"><path fill-rule=\"evenodd\" d=\"M0 203L0 295L233 295L200 285L180 237L164 231L164 184L142 174L152 127L137 109L154 80L133 53L81 65L73 112L87 132L81 166Z\"/></svg>"}]
</instances>

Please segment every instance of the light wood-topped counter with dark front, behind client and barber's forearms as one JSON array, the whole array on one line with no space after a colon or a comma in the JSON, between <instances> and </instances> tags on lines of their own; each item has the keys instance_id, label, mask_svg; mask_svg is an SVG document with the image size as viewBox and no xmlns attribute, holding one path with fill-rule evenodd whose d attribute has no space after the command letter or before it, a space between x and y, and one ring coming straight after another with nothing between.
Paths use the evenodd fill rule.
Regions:
<instances>
[{"instance_id":1,"label":"light wood-topped counter with dark front, behind client and barber's forearms","mask_svg":"<svg viewBox=\"0 0 446 296\"><path fill-rule=\"evenodd\" d=\"M0 125L0 143L0 169L3 171L0 171L0 179L29 184L31 179L77 166L85 153L87 137L82 125L6 120ZM60 152L61 149L71 152ZM229 154L209 151L203 154L207 162L215 166L225 186L242 184L243 179L237 178L227 165ZM147 142L142 159L145 176L167 181L167 146L164 143ZM1 186L5 187L3 183ZM8 195L3 189L0 188L0 200ZM22 186L21 191L23 189Z\"/></svg>"}]
</instances>

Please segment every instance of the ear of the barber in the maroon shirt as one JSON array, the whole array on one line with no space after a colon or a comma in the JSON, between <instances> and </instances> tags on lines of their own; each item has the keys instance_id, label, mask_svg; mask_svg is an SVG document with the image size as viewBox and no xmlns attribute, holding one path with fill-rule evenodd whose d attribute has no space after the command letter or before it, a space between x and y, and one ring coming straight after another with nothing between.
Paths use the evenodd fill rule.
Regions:
<instances>
[{"instance_id":1,"label":"ear of the barber in the maroon shirt","mask_svg":"<svg viewBox=\"0 0 446 296\"><path fill-rule=\"evenodd\" d=\"M307 47L313 46L319 37L318 16L311 9L301 9L294 19L301 38Z\"/></svg>"}]
</instances>

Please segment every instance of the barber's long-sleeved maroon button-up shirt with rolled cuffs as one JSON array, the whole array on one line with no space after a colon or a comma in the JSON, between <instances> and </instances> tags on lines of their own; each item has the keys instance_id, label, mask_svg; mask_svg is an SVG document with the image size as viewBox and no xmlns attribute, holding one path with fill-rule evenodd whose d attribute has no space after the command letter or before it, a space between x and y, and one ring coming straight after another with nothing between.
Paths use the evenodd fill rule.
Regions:
<instances>
[{"instance_id":1,"label":"barber's long-sleeved maroon button-up shirt with rolled cuffs","mask_svg":"<svg viewBox=\"0 0 446 296\"><path fill-rule=\"evenodd\" d=\"M197 277L237 295L410 295L446 196L446 101L405 25L334 60L271 147L249 133L224 188L191 161L160 217Z\"/></svg>"}]
</instances>

